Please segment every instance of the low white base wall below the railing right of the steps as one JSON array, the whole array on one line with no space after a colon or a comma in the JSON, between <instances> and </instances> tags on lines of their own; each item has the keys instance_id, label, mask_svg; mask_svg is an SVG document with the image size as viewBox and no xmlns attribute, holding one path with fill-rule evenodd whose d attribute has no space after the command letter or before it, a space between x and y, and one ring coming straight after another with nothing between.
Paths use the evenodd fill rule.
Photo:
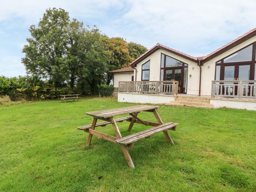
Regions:
<instances>
[{"instance_id":1,"label":"low white base wall below the railing right of the steps","mask_svg":"<svg viewBox=\"0 0 256 192\"><path fill-rule=\"evenodd\" d=\"M210 99L210 104L215 108L227 107L235 109L247 109L256 110L256 101L242 101L242 100L231 100L231 99Z\"/></svg>"}]
</instances>

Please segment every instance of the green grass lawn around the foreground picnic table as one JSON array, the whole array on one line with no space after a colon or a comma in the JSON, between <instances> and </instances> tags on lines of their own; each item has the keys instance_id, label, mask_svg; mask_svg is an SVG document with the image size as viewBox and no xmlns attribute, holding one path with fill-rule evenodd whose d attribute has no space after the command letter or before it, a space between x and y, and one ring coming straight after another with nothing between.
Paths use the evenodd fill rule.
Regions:
<instances>
[{"instance_id":1,"label":"green grass lawn around the foreground picnic table","mask_svg":"<svg viewBox=\"0 0 256 192\"><path fill-rule=\"evenodd\" d=\"M120 146L93 136L87 147L76 127L91 124L86 112L132 105L89 97L0 107L0 191L256 191L256 111L161 106L163 123L179 123L175 145L163 133L135 142L130 169ZM149 128L117 125L123 136ZM95 129L114 135L111 125Z\"/></svg>"}]
</instances>

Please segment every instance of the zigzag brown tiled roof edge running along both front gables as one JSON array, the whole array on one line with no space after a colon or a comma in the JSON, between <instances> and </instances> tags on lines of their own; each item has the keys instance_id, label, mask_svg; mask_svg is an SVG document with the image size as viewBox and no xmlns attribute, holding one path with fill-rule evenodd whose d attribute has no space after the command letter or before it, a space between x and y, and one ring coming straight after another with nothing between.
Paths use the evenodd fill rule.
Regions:
<instances>
[{"instance_id":1,"label":"zigzag brown tiled roof edge running along both front gables","mask_svg":"<svg viewBox=\"0 0 256 192\"><path fill-rule=\"evenodd\" d=\"M242 42L248 40L249 38L252 38L253 36L256 35L256 28L248 31L247 33L245 33L244 35L234 39L233 41L229 42L228 44L222 46L221 48L215 50L214 52L208 54L207 56L203 56L203 57L193 57L190 56L188 54L182 53L178 50L169 48L167 46L161 45L159 43L157 43L155 46L153 46L151 49L149 49L147 52L145 52L144 54L142 54L140 57L138 57L137 59L135 59L134 61L132 61L132 63L130 64L131 67L135 67L140 61L142 61L143 59L145 59L146 57L148 57L149 55L151 55L152 53L154 53L155 51L157 51L158 49L164 49L167 50L173 54L176 54L178 56L181 56L185 59L197 62L197 61L202 61L202 63L205 63L206 61L211 60L214 57L217 57L218 55L226 52L227 50L241 44Z\"/></svg>"}]
</instances>

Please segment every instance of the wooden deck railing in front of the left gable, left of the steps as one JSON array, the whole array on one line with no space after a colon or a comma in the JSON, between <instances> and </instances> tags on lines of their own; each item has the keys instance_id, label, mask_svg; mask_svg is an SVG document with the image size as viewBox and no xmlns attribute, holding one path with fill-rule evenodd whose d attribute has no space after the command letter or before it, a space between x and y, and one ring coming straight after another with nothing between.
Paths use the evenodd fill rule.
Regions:
<instances>
[{"instance_id":1,"label":"wooden deck railing in front of the left gable, left of the steps","mask_svg":"<svg viewBox=\"0 0 256 192\"><path fill-rule=\"evenodd\" d=\"M118 92L177 95L178 81L122 81Z\"/></svg>"}]
</instances>

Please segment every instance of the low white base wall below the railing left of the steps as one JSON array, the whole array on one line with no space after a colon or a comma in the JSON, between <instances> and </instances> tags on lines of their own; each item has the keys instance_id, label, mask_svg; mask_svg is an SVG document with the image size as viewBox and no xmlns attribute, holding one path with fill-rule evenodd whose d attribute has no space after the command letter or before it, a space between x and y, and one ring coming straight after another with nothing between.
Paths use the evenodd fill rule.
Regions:
<instances>
[{"instance_id":1,"label":"low white base wall below the railing left of the steps","mask_svg":"<svg viewBox=\"0 0 256 192\"><path fill-rule=\"evenodd\" d=\"M118 102L163 104L175 101L176 97L171 95L118 93L117 98Z\"/></svg>"}]
</instances>

